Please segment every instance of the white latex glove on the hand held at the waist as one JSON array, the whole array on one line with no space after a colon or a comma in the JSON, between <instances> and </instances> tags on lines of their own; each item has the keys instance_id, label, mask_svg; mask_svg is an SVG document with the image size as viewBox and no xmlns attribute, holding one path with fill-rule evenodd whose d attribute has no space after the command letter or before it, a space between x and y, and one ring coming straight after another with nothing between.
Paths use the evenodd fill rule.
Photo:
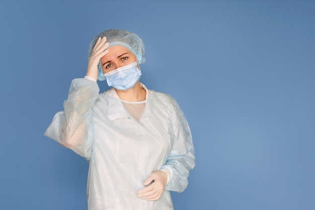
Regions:
<instances>
[{"instance_id":1,"label":"white latex glove on the hand held at the waist","mask_svg":"<svg viewBox=\"0 0 315 210\"><path fill-rule=\"evenodd\" d=\"M143 183L148 186L138 191L138 197L148 201L158 200L163 195L167 181L168 173L166 171L152 172Z\"/></svg>"}]
</instances>

